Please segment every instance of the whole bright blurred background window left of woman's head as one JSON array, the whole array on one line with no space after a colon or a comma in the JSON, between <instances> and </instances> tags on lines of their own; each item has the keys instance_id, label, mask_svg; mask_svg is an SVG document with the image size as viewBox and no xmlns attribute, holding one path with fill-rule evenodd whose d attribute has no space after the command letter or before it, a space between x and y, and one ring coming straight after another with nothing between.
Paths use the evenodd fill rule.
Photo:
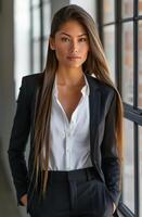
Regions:
<instances>
[{"instance_id":1,"label":"whole bright blurred background window left of woman's head","mask_svg":"<svg viewBox=\"0 0 142 217\"><path fill-rule=\"evenodd\" d=\"M41 73L48 51L50 0L14 1L14 79L17 98L22 77Z\"/></svg>"}]
</instances>

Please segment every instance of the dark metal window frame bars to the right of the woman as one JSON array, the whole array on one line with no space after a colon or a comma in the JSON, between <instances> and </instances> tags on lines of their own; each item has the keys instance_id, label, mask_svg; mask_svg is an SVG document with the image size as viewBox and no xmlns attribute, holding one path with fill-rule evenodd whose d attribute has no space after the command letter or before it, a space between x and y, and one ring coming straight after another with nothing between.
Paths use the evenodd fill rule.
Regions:
<instances>
[{"instance_id":1,"label":"dark metal window frame bars to the right of the woman","mask_svg":"<svg viewBox=\"0 0 142 217\"><path fill-rule=\"evenodd\" d=\"M108 25L115 25L115 75L116 86L122 93L122 24L127 22L133 23L133 105L124 102L125 118L133 122L134 127L134 215L132 212L122 203L122 195L119 202L119 210L124 216L128 217L140 217L140 177L139 177L139 126L142 126L142 110L138 106L139 98L139 21L142 20L142 15L139 14L139 0L133 0L133 15L131 17L121 16L121 0L115 1L115 21L109 23L103 23L103 0L96 1L96 23L101 41L103 43L103 27Z\"/></svg>"}]
</instances>

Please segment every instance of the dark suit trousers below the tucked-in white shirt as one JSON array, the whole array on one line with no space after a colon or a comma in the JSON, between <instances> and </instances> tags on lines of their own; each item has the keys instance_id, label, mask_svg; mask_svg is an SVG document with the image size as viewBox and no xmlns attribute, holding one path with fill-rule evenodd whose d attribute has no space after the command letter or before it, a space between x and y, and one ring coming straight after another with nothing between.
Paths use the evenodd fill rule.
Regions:
<instances>
[{"instance_id":1,"label":"dark suit trousers below the tucked-in white shirt","mask_svg":"<svg viewBox=\"0 0 142 217\"><path fill-rule=\"evenodd\" d=\"M49 171L46 196L35 193L31 217L113 217L113 200L94 167Z\"/></svg>"}]
</instances>

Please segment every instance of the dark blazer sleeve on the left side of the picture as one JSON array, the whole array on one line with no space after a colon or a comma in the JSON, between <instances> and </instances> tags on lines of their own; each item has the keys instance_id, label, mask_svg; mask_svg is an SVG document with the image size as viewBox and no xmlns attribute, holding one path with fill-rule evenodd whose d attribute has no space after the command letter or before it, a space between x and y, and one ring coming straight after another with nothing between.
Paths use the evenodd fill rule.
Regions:
<instances>
[{"instance_id":1,"label":"dark blazer sleeve on the left side of the picture","mask_svg":"<svg viewBox=\"0 0 142 217\"><path fill-rule=\"evenodd\" d=\"M24 153L30 129L30 106L25 77L22 79L22 86L16 103L16 113L11 131L8 154L16 189L17 205L23 205L21 197L27 193L28 188L28 175Z\"/></svg>"}]
</instances>

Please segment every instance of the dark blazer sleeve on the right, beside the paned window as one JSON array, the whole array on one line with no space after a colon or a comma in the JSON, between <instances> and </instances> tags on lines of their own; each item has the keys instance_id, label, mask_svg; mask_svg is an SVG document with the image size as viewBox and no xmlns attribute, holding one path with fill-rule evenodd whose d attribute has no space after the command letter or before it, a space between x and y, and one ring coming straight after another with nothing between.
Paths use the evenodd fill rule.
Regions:
<instances>
[{"instance_id":1,"label":"dark blazer sleeve on the right, beside the paned window","mask_svg":"<svg viewBox=\"0 0 142 217\"><path fill-rule=\"evenodd\" d=\"M120 158L118 156L116 140L116 98L117 93L113 91L111 105L105 119L104 138L102 142L102 170L105 177L106 187L116 204L120 197L121 191L121 169Z\"/></svg>"}]
</instances>

